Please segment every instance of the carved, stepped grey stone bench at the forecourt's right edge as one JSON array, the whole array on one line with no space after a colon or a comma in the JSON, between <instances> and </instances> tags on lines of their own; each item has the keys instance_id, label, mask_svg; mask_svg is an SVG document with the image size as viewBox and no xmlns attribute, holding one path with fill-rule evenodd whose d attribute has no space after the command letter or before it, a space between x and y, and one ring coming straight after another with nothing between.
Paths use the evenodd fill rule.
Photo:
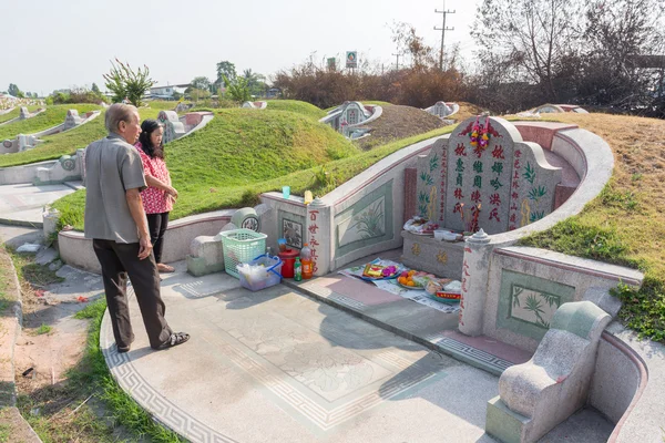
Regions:
<instances>
[{"instance_id":1,"label":"carved, stepped grey stone bench at the forecourt's right edge","mask_svg":"<svg viewBox=\"0 0 665 443\"><path fill-rule=\"evenodd\" d=\"M533 358L499 379L500 395L488 402L487 433L505 443L535 442L584 406L610 320L591 301L562 305Z\"/></svg>"}]
</instances>

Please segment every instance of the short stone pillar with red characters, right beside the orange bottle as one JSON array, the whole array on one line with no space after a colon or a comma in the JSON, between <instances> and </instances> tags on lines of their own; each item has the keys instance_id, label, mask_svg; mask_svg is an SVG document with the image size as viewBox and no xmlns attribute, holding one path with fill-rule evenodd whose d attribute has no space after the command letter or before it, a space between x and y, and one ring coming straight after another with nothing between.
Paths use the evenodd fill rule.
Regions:
<instances>
[{"instance_id":1,"label":"short stone pillar with red characters, right beside the orange bottle","mask_svg":"<svg viewBox=\"0 0 665 443\"><path fill-rule=\"evenodd\" d=\"M307 205L305 238L311 249L315 276L325 276L331 270L334 236L330 212L330 206L318 197Z\"/></svg>"}]
</instances>

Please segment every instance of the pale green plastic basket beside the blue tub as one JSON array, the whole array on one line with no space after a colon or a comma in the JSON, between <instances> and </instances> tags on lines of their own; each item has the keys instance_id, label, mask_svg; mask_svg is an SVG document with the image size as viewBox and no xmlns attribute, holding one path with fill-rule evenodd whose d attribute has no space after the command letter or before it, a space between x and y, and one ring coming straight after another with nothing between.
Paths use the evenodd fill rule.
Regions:
<instances>
[{"instance_id":1,"label":"pale green plastic basket beside the blue tub","mask_svg":"<svg viewBox=\"0 0 665 443\"><path fill-rule=\"evenodd\" d=\"M224 269L226 274L241 278L237 266L249 262L266 254L266 238L262 233L250 229L234 229L219 233L224 248Z\"/></svg>"}]
</instances>

